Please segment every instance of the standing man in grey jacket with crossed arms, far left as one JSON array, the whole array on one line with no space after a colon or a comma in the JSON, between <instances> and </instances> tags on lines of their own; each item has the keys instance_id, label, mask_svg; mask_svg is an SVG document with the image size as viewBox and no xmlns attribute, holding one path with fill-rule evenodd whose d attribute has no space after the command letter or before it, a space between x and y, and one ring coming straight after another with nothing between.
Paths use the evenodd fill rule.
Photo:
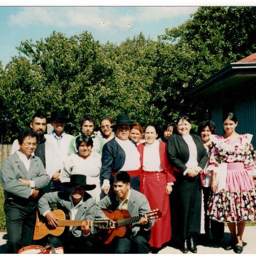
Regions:
<instances>
[{"instance_id":1,"label":"standing man in grey jacket with crossed arms, far left","mask_svg":"<svg viewBox=\"0 0 256 256\"><path fill-rule=\"evenodd\" d=\"M8 253L17 253L20 248L32 244L38 193L50 180L40 158L32 156L37 137L34 131L21 131L18 135L20 150L6 157L0 169Z\"/></svg>"}]
</instances>

